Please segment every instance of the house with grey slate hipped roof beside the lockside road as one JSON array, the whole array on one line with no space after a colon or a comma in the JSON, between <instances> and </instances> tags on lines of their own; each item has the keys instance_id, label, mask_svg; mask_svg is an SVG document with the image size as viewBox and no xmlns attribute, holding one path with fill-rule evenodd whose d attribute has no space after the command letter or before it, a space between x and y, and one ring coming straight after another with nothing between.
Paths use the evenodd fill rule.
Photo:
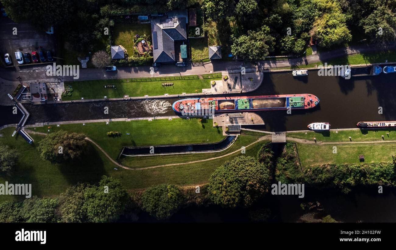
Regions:
<instances>
[{"instance_id":1,"label":"house with grey slate hipped roof beside the lockside road","mask_svg":"<svg viewBox=\"0 0 396 250\"><path fill-rule=\"evenodd\" d=\"M181 61L180 46L187 44L186 18L152 19L151 36L154 63Z\"/></svg>"}]
</instances>

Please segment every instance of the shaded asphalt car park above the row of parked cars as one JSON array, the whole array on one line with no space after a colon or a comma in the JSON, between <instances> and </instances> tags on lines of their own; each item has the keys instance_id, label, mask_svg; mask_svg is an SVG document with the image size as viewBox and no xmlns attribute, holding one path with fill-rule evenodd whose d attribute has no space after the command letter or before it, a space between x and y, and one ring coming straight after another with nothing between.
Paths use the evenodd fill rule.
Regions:
<instances>
[{"instance_id":1,"label":"shaded asphalt car park above the row of parked cars","mask_svg":"<svg viewBox=\"0 0 396 250\"><path fill-rule=\"evenodd\" d=\"M15 59L15 52L21 51L22 54L28 52L30 61L32 51L51 50L55 52L55 36L47 34L45 30L37 30L27 23L14 23L8 17L0 17L0 55L4 62L4 54L10 54L13 65L19 66ZM17 28L17 34L13 34L14 28ZM26 64L26 62L24 63ZM31 62L30 64L34 64Z\"/></svg>"}]
</instances>

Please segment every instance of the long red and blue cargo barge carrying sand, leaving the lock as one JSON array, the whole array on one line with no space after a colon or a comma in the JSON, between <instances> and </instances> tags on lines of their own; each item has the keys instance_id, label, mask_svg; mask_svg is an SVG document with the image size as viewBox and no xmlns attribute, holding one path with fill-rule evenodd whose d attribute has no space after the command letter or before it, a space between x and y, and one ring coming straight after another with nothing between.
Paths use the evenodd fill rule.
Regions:
<instances>
[{"instance_id":1,"label":"long red and blue cargo barge carrying sand, leaving the lock","mask_svg":"<svg viewBox=\"0 0 396 250\"><path fill-rule=\"evenodd\" d=\"M318 105L319 98L312 94L260 95L252 97L188 98L173 103L177 113L196 112L249 112L262 110L309 109Z\"/></svg>"}]
</instances>

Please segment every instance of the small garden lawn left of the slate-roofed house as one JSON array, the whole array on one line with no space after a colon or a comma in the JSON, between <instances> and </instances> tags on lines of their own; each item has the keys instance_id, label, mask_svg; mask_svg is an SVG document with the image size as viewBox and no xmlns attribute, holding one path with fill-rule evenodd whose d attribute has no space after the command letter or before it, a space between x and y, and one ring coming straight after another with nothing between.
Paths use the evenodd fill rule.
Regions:
<instances>
[{"instance_id":1,"label":"small garden lawn left of the slate-roofed house","mask_svg":"<svg viewBox=\"0 0 396 250\"><path fill-rule=\"evenodd\" d=\"M133 37L135 35L142 36L146 34L151 35L151 26L149 23L136 23L136 24L120 24L117 23L113 27L114 45L122 45L126 48L129 56L135 55L133 44Z\"/></svg>"}]
</instances>

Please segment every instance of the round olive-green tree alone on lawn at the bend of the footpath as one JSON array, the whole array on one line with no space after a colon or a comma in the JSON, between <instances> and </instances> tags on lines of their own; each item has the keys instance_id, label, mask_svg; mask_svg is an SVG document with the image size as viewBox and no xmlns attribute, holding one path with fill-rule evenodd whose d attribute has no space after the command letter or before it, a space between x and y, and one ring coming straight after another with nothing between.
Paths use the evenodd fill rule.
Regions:
<instances>
[{"instance_id":1,"label":"round olive-green tree alone on lawn at the bend of the footpath","mask_svg":"<svg viewBox=\"0 0 396 250\"><path fill-rule=\"evenodd\" d=\"M87 146L84 138L84 134L68 134L60 130L44 137L39 142L38 150L42 159L48 161L79 159Z\"/></svg>"}]
</instances>

